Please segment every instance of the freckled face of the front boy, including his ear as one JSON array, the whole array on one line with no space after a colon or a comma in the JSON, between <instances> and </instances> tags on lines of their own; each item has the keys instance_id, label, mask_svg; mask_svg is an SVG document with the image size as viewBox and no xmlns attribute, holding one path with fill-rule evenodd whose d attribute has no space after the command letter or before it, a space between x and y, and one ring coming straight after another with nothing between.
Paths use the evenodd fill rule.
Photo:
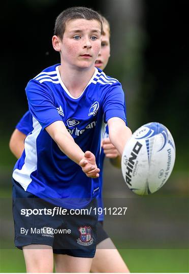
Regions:
<instances>
[{"instance_id":1,"label":"freckled face of the front boy, including his ear","mask_svg":"<svg viewBox=\"0 0 189 274\"><path fill-rule=\"evenodd\" d=\"M100 48L100 22L85 19L68 21L62 41L59 40L56 48L54 47L55 50L60 51L62 64L80 68L94 66Z\"/></svg>"}]
</instances>

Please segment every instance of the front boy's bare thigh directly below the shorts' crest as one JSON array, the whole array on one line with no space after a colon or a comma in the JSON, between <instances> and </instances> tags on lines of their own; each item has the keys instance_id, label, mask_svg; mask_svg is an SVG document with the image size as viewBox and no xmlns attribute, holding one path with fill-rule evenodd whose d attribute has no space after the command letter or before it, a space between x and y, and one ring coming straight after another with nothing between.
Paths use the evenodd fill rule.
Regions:
<instances>
[{"instance_id":1,"label":"front boy's bare thigh directly below the shorts' crest","mask_svg":"<svg viewBox=\"0 0 189 274\"><path fill-rule=\"evenodd\" d=\"M88 273L90 272L91 263L92 258L81 258L69 255L54 254L56 273Z\"/></svg>"}]
</instances>

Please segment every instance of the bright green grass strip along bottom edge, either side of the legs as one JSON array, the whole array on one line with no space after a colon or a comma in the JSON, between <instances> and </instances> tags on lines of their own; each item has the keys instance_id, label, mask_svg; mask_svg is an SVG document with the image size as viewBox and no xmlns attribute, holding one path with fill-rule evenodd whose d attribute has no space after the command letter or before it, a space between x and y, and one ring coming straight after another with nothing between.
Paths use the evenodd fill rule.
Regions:
<instances>
[{"instance_id":1,"label":"bright green grass strip along bottom edge, either side of the legs","mask_svg":"<svg viewBox=\"0 0 189 274\"><path fill-rule=\"evenodd\" d=\"M189 251L171 249L119 250L131 272L189 272ZM0 271L25 272L22 251L0 250Z\"/></svg>"}]
</instances>

